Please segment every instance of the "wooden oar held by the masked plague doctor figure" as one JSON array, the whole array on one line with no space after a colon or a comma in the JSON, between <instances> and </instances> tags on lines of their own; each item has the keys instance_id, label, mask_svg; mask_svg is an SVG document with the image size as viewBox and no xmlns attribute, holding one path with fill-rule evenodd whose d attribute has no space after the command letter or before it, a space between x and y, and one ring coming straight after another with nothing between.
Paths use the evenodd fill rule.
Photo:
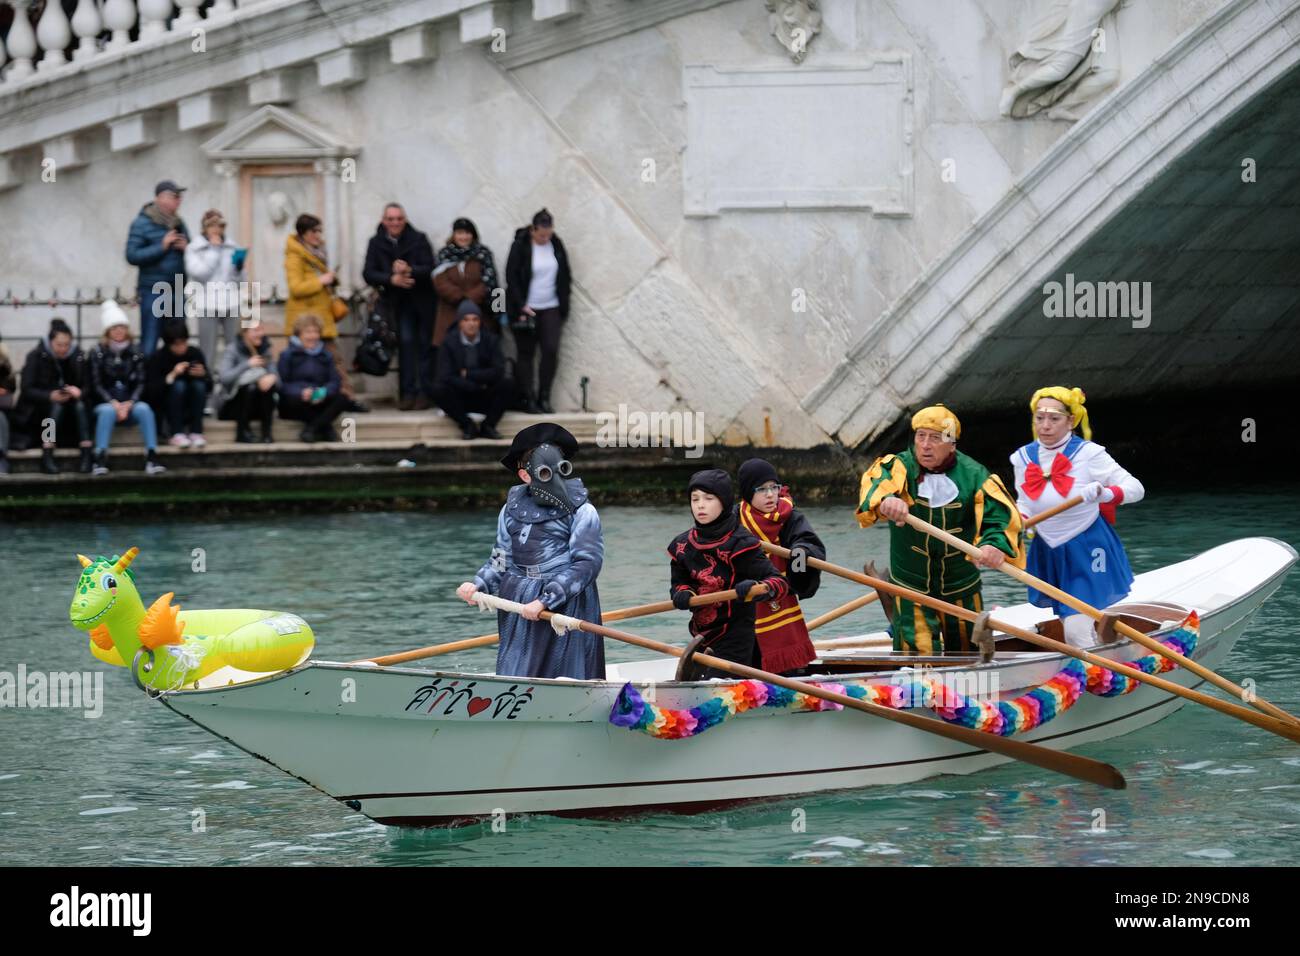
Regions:
<instances>
[{"instance_id":1,"label":"wooden oar held by the masked plague doctor figure","mask_svg":"<svg viewBox=\"0 0 1300 956\"><path fill-rule=\"evenodd\" d=\"M476 594L474 600L481 605L497 607L498 610L512 611L515 614L523 610L523 605L514 601L503 601L493 594ZM681 648L650 640L649 637L638 637L637 635L628 633L627 631L615 631L612 627L604 627L603 624L593 624L577 618L556 615L551 611L542 611L541 617L543 620L560 618L560 622L566 627L586 631L602 637L610 637L616 641L623 641L624 644L633 644L638 648L646 648L647 650L654 650L670 657L681 657L682 654ZM941 737L948 737L949 740L957 740L962 744L976 748L979 752L988 750L1004 757L1011 757L1014 760L1020 760L1026 763L1043 767L1044 770L1054 770L1057 773L1066 774L1067 777L1074 777L1076 779L1096 783L1112 790L1123 790L1126 787L1123 774L1109 763L1102 763L1101 761L1092 760L1091 757L1079 757L1063 750L1049 750L1045 747L1027 744L1023 740L1013 740L1010 737L1001 737L993 734L984 734L983 731L971 730L970 727L962 727L956 723L945 723L939 719L910 714L906 710L893 710L892 708L885 708L879 704L871 704L864 700L849 697L848 695L836 693L835 691L827 691L824 688L815 687L814 684L803 683L802 680L792 680L789 678L783 678L779 674L760 671L757 667L724 661L720 657L712 657L711 654L696 653L692 657L706 667L712 667L714 670L727 671L728 674L734 674L738 678L749 680L764 680L768 684L776 684L777 687L784 687L789 691L798 691L800 693L806 693L810 697L820 697L822 700L833 701L853 710L861 710L864 714L883 717L887 721L902 723L907 727L926 731L927 734L936 734Z\"/></svg>"}]
</instances>

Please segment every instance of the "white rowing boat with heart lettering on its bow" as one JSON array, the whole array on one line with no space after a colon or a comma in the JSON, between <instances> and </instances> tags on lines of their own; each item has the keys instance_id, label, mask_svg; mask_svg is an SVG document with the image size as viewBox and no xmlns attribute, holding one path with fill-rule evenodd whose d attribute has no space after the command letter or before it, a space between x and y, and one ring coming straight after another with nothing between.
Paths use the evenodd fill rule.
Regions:
<instances>
[{"instance_id":1,"label":"white rowing boat with heart lettering on its bow","mask_svg":"<svg viewBox=\"0 0 1300 956\"><path fill-rule=\"evenodd\" d=\"M1295 561L1295 549L1275 538L1232 541L1138 575L1132 593L1114 610L1153 619L1154 636L1196 611L1193 657L1218 669ZM1050 613L1018 605L996 617L1032 627ZM1093 650L1115 661L1148 653L1127 640ZM907 674L900 670L907 662L879 663L888 658L880 653L857 672L835 666L854 654L862 652L824 652L829 679L889 684ZM1011 700L1052 679L1069 659L1000 650L989 663L967 661L931 674L965 693L996 689L998 698ZM675 682L676 666L673 658L611 665L606 680L577 682L308 661L228 685L220 684L237 675L218 671L196 689L162 692L159 700L365 816L398 825L447 825L499 812L693 812L968 774L1008 760L852 710L754 709L681 740L610 723L625 682L653 687L658 706L682 710L734 683ZM1182 669L1164 676L1186 687L1202 683ZM1145 727L1182 705L1180 697L1152 687L1110 698L1084 693L1017 739L1070 749Z\"/></svg>"}]
</instances>

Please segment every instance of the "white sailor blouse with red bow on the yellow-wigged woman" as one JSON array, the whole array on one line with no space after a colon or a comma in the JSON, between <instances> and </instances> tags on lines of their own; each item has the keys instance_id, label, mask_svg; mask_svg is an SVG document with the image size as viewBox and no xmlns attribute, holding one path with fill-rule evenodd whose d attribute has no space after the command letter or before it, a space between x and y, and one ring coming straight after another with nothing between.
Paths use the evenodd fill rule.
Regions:
<instances>
[{"instance_id":1,"label":"white sailor blouse with red bow on the yellow-wigged woman","mask_svg":"<svg viewBox=\"0 0 1300 956\"><path fill-rule=\"evenodd\" d=\"M1034 460L1035 450L1037 462ZM1011 466L1015 468L1015 505L1026 518L1072 498L1093 481L1104 489L1101 499L1075 505L1034 525L1034 532L1052 548L1091 527L1098 514L1114 524L1118 505L1141 501L1145 494L1141 481L1124 471L1104 446L1076 434L1054 449L1040 442L1017 449Z\"/></svg>"}]
</instances>

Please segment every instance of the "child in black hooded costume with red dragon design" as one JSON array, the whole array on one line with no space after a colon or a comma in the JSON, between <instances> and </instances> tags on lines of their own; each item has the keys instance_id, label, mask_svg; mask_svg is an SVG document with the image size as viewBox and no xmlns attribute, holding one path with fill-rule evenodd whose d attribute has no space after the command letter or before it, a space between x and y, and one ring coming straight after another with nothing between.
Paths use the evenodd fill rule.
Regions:
<instances>
[{"instance_id":1,"label":"child in black hooded costume with red dragon design","mask_svg":"<svg viewBox=\"0 0 1300 956\"><path fill-rule=\"evenodd\" d=\"M763 554L758 538L740 527L731 475L720 468L697 471L688 489L694 527L668 544L672 604L686 610L696 594L734 588L738 600L692 610L690 633L701 639L697 650L758 667L762 658L749 592L762 581L767 587L763 600L780 600L789 593L789 584ZM734 675L705 669L703 676Z\"/></svg>"}]
</instances>

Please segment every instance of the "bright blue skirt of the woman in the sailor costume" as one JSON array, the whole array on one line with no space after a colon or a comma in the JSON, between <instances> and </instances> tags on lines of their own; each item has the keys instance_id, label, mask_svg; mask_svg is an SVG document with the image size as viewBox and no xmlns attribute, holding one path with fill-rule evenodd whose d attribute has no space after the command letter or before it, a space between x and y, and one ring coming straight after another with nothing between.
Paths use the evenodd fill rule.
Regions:
<instances>
[{"instance_id":1,"label":"bright blue skirt of the woman in the sailor costume","mask_svg":"<svg viewBox=\"0 0 1300 956\"><path fill-rule=\"evenodd\" d=\"M1041 536L1035 536L1024 570L1093 607L1106 607L1122 601L1134 583L1124 546L1115 529L1101 515L1058 548L1052 548ZM1072 607L1066 607L1034 588L1030 588L1030 602L1037 607L1052 607L1062 618L1076 614Z\"/></svg>"}]
</instances>

